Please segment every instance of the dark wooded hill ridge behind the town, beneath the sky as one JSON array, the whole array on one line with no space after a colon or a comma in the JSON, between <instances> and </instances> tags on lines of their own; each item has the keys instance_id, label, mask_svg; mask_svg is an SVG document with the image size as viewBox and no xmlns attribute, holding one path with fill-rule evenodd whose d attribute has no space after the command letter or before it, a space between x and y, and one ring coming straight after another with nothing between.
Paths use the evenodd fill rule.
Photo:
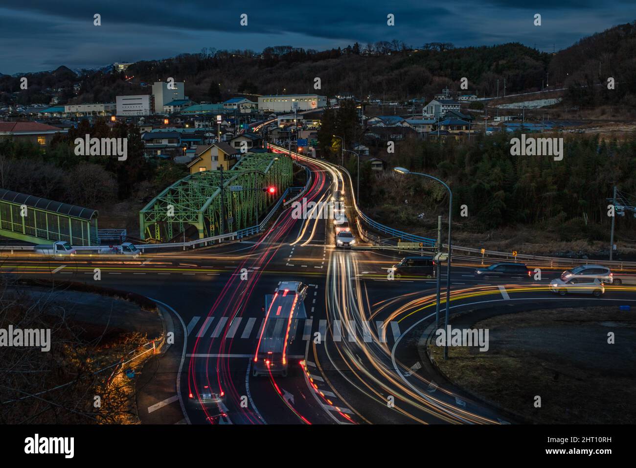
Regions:
<instances>
[{"instance_id":1,"label":"dark wooded hill ridge behind the town, beneath the sky","mask_svg":"<svg viewBox=\"0 0 636 468\"><path fill-rule=\"evenodd\" d=\"M464 77L468 90L478 96L494 95L497 80L502 92L504 79L508 94L539 90L547 77L551 87L568 85L573 99L623 100L636 94L635 29L636 22L619 25L555 54L519 43L455 48L448 43L407 46L382 41L322 52L291 46L266 47L263 52L205 47L199 53L136 62L126 73L85 71L75 76L60 67L27 74L29 90L18 99L22 104L43 102L48 87L69 90L63 97L71 102L114 101L118 94L147 94L149 88L141 83L172 77L186 82L186 94L194 101L218 101L242 93L315 92L314 78L321 78L320 93L326 96L352 92L359 97L405 100L431 98L447 86L457 90ZM134 78L126 81L126 75ZM621 83L611 96L605 96L600 86L608 76ZM74 82L82 83L79 96L73 95ZM0 76L0 100L9 102L8 93L19 87L18 77Z\"/></svg>"}]
</instances>

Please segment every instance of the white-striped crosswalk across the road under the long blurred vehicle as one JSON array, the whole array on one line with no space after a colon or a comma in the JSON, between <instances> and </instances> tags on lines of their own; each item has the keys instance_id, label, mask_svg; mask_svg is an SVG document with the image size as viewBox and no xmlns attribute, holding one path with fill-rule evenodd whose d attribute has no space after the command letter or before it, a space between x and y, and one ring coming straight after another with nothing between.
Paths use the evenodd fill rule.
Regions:
<instances>
[{"instance_id":1,"label":"white-striped crosswalk across the road under the long blurred vehicle","mask_svg":"<svg viewBox=\"0 0 636 468\"><path fill-rule=\"evenodd\" d=\"M287 327L286 318L270 318L277 323L270 324L273 330ZM228 317L201 317L194 316L188 323L188 336L197 338L219 338L225 336L226 339L256 339L260 336L265 319L262 317L235 317L228 320ZM326 319L314 320L313 318L294 318L291 320L290 339L301 339L307 341L315 338L315 333L319 333L322 340L330 341L357 341L361 337L364 343L379 341L388 343L397 341L401 331L399 323L392 321L384 323L381 320L373 322L364 321L359 323L346 322L342 320Z\"/></svg>"}]
</instances>

